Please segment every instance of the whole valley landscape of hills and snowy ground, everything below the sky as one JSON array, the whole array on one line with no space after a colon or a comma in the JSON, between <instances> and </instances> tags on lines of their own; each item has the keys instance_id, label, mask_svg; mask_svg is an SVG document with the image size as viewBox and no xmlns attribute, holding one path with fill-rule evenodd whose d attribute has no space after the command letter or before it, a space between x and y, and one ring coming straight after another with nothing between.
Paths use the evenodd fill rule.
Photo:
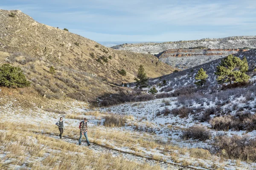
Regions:
<instances>
[{"instance_id":1,"label":"whole valley landscape of hills and snowy ground, everything below the sky","mask_svg":"<svg viewBox=\"0 0 256 170\"><path fill-rule=\"evenodd\" d=\"M19 10L0 23L0 169L256 169L256 36L113 49Z\"/></svg>"}]
</instances>

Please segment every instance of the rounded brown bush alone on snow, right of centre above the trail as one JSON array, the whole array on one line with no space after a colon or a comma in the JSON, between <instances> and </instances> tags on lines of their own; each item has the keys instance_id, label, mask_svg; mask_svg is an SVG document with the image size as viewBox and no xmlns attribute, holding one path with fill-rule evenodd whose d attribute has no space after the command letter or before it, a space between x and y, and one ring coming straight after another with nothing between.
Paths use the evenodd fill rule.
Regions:
<instances>
[{"instance_id":1,"label":"rounded brown bush alone on snow, right of centre above the trail","mask_svg":"<svg viewBox=\"0 0 256 170\"><path fill-rule=\"evenodd\" d=\"M203 126L192 126L186 129L182 135L182 139L198 139L205 141L211 138L209 130L206 130Z\"/></svg>"}]
</instances>

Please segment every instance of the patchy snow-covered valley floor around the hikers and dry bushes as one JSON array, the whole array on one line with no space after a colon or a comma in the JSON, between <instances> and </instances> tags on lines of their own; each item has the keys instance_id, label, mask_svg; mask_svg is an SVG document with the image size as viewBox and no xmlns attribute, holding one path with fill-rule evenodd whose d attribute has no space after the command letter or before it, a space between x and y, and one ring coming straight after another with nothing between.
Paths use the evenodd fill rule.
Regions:
<instances>
[{"instance_id":1,"label":"patchy snow-covered valley floor around the hikers and dry bushes","mask_svg":"<svg viewBox=\"0 0 256 170\"><path fill-rule=\"evenodd\" d=\"M241 98L237 98L236 101L240 101ZM208 149L211 147L212 140L206 140L204 142L198 140L183 140L180 139L180 135L183 130L194 125L202 125L205 127L210 127L209 123L200 123L196 121L193 115L189 115L187 118L180 118L179 116L173 116L169 114L168 116L158 115L159 111L164 109L175 109L180 108L183 105L177 104L177 98L165 98L165 99L155 99L147 102L134 102L134 103L125 103L121 105L116 105L108 108L99 108L96 111L99 112L99 115L88 115L89 112L95 111L90 110L89 108L83 107L87 105L83 102L71 102L67 103L65 113L54 113L49 111L44 111L41 108L33 108L24 110L18 105L14 105L17 102L15 100L9 100L6 105L0 106L0 122L26 122L33 125L49 125L55 127L55 122L58 121L59 117L64 117L64 123L66 128L77 128L79 127L79 119L67 119L65 118L68 114L76 114L78 116L85 116L89 119L89 137L90 133L95 133L96 130L112 132L118 131L119 134L127 133L134 134L136 136L143 136L143 138L152 141L160 141L164 144L168 143L173 148L177 147L177 149L165 150L164 145L162 147L150 148L143 147L140 144L136 144L133 146L126 146L119 144L118 142L102 137L98 139L98 142L102 143L107 147L111 147L120 151L134 153L134 150L139 150L139 152L145 157L160 157L166 162L180 162L180 164L189 164L193 167L199 167L202 162L204 163L204 167L212 168L213 165L217 165L218 167L223 167L226 170L242 170L249 169L253 170L256 168L256 163L247 163L244 161L239 161L238 163L234 160L224 159L212 155L209 159L201 159L201 158L192 158L190 156L189 150L192 148L205 148ZM189 107L202 107L201 104L196 102L192 102L193 105ZM203 107L214 107L214 104L203 105ZM225 107L225 105L223 106ZM108 115L108 113L115 113L118 115L131 115L134 119L128 119L125 127L105 127L102 125L104 121L104 115ZM103 116L102 116L103 115ZM99 125L99 121L101 125ZM57 128L56 128L57 129ZM212 136L215 136L218 132L215 130L209 129L212 133ZM42 131L43 132L43 131ZM56 131L55 131L56 132ZM228 135L238 134L242 135L243 133L247 133L245 131L231 131L223 132ZM256 130L253 130L248 135L255 137ZM79 133L75 134L74 137L78 137ZM132 149L135 148L135 149ZM186 162L186 163L184 163Z\"/></svg>"}]
</instances>

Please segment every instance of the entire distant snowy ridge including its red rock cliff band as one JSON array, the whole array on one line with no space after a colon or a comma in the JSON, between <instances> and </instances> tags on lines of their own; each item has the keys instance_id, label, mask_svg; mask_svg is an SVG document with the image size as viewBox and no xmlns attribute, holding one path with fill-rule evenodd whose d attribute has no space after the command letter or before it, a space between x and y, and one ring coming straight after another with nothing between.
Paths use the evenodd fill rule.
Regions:
<instances>
[{"instance_id":1,"label":"entire distant snowy ridge including its red rock cliff band","mask_svg":"<svg viewBox=\"0 0 256 170\"><path fill-rule=\"evenodd\" d=\"M245 49L256 48L256 36L122 44L111 48L154 54L159 57L160 61L184 69L225 57L228 54L236 54L240 50L245 51Z\"/></svg>"}]
</instances>

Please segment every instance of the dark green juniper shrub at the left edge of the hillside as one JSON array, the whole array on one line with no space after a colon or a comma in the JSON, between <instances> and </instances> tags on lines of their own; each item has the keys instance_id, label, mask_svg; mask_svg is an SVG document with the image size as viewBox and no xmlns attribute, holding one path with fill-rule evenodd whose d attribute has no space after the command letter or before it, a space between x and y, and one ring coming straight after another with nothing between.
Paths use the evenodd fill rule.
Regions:
<instances>
[{"instance_id":1,"label":"dark green juniper shrub at the left edge of the hillside","mask_svg":"<svg viewBox=\"0 0 256 170\"><path fill-rule=\"evenodd\" d=\"M9 64L3 64L0 67L0 86L8 88L28 87L30 82L26 80L20 67L13 67Z\"/></svg>"}]
</instances>

